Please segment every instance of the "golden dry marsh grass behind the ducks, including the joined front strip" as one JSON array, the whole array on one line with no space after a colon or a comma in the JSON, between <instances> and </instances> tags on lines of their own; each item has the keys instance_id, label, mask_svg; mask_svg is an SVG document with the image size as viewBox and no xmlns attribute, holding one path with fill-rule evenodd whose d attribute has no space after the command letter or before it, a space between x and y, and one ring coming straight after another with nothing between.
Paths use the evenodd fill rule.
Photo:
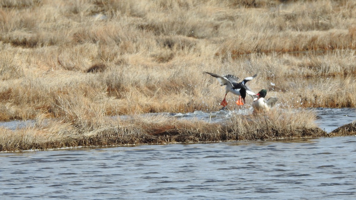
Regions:
<instances>
[{"instance_id":1,"label":"golden dry marsh grass behind the ducks, including the joined front strip","mask_svg":"<svg viewBox=\"0 0 356 200\"><path fill-rule=\"evenodd\" d=\"M3 128L1 149L304 136L283 125L256 136L266 118L253 115L243 131L137 114L219 110L224 88L202 71L258 73L250 88L268 89L284 109L356 107L355 8L352 0L1 1L0 120L36 120ZM236 98L227 95L230 109Z\"/></svg>"}]
</instances>

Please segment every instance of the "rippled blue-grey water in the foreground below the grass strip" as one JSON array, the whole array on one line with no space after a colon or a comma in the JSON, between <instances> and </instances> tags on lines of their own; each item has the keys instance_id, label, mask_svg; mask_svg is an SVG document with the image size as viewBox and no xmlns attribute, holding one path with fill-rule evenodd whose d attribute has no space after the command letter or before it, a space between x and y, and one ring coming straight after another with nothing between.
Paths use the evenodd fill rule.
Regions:
<instances>
[{"instance_id":1,"label":"rippled blue-grey water in the foreground below the grass strip","mask_svg":"<svg viewBox=\"0 0 356 200\"><path fill-rule=\"evenodd\" d=\"M2 199L355 199L356 137L0 153Z\"/></svg>"}]
</instances>

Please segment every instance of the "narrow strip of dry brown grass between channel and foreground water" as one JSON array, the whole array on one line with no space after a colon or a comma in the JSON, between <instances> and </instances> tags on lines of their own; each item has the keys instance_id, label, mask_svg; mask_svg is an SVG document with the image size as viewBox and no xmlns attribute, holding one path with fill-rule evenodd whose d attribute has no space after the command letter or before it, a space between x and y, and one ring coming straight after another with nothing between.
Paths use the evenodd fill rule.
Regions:
<instances>
[{"instance_id":1,"label":"narrow strip of dry brown grass between channel and foreground water","mask_svg":"<svg viewBox=\"0 0 356 200\"><path fill-rule=\"evenodd\" d=\"M77 119L77 118L75 118ZM275 140L328 137L308 110L277 109L266 114L235 115L224 123L186 121L172 116L134 115L126 119L96 117L66 122L38 117L33 127L1 129L0 151L142 143ZM100 122L100 123L99 123ZM347 134L347 133L343 133Z\"/></svg>"}]
</instances>

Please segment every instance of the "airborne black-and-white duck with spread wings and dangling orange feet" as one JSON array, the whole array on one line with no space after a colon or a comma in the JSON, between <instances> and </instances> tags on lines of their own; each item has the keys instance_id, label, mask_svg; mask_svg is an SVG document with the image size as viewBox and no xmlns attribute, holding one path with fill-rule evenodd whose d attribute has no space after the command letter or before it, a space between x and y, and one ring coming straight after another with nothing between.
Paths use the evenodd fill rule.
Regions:
<instances>
[{"instance_id":1,"label":"airborne black-and-white duck with spread wings and dangling orange feet","mask_svg":"<svg viewBox=\"0 0 356 200\"><path fill-rule=\"evenodd\" d=\"M251 96L256 95L245 84L247 83L247 81L255 78L257 76L257 74L253 75L252 77L246 77L244 80L242 80L239 83L239 82L237 82L239 80L239 78L237 78L236 76L231 75L231 74L220 76L218 74L213 74L210 72L203 72L203 73L210 74L211 76L217 78L219 83L221 84L221 86L226 85L225 97L224 97L224 100L221 101L221 103L220 103L220 105L222 105L224 107L227 105L226 95L229 92L231 92L232 94L239 95L239 100L236 101L236 104L239 106L244 105L244 103L241 101L241 97L245 102L246 94L251 95Z\"/></svg>"}]
</instances>

